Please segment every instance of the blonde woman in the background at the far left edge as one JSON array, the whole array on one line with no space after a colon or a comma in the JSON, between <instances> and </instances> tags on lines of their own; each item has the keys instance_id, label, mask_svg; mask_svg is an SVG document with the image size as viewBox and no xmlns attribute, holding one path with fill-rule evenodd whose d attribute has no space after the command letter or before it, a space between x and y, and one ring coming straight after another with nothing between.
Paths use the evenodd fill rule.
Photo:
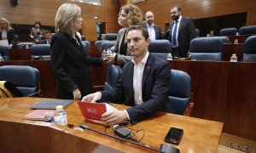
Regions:
<instances>
[{"instance_id":1,"label":"blonde woman in the background at the far left edge","mask_svg":"<svg viewBox=\"0 0 256 153\"><path fill-rule=\"evenodd\" d=\"M5 18L0 18L0 28L0 40L7 40L7 47L13 48L15 46L15 30Z\"/></svg>"}]
</instances>

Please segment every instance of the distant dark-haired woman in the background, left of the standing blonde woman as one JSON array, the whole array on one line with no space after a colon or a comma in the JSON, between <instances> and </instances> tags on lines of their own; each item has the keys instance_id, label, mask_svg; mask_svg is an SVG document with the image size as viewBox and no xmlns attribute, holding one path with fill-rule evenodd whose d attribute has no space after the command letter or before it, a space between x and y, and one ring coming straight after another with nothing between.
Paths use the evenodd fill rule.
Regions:
<instances>
[{"instance_id":1,"label":"distant dark-haired woman in the background, left of the standing blonde woman","mask_svg":"<svg viewBox=\"0 0 256 153\"><path fill-rule=\"evenodd\" d=\"M35 27L32 27L32 30L29 35L33 41L40 42L42 37L44 37L44 29L41 26L41 22L36 21Z\"/></svg>"}]
</instances>

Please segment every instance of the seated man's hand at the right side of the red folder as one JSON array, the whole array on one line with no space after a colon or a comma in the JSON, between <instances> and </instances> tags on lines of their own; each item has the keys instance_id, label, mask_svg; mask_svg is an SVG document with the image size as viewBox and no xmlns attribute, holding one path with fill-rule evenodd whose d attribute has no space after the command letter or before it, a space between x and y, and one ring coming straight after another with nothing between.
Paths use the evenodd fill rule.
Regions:
<instances>
[{"instance_id":1,"label":"seated man's hand at the right side of the red folder","mask_svg":"<svg viewBox=\"0 0 256 153\"><path fill-rule=\"evenodd\" d=\"M129 120L125 111L109 111L102 114L102 122L107 125L112 126L118 124L119 122L127 122Z\"/></svg>"}]
</instances>

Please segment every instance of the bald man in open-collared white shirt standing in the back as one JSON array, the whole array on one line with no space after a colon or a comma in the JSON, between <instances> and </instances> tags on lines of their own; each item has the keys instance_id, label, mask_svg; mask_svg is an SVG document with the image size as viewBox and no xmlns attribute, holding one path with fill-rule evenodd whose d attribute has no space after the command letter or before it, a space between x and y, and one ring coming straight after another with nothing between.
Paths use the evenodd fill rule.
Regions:
<instances>
[{"instance_id":1,"label":"bald man in open-collared white shirt standing in the back","mask_svg":"<svg viewBox=\"0 0 256 153\"><path fill-rule=\"evenodd\" d=\"M148 11L145 14L145 19L146 21L144 22L143 26L148 29L150 40L161 39L161 29L160 26L154 24L154 14L151 11Z\"/></svg>"}]
</instances>

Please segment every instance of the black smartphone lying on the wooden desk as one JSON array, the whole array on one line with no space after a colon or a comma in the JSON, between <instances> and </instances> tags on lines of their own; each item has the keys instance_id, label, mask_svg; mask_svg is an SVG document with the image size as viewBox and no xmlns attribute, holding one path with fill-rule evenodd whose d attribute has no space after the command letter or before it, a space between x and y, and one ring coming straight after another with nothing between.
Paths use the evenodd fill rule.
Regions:
<instances>
[{"instance_id":1,"label":"black smartphone lying on the wooden desk","mask_svg":"<svg viewBox=\"0 0 256 153\"><path fill-rule=\"evenodd\" d=\"M183 137L183 129L171 127L166 135L165 141L172 144L179 144Z\"/></svg>"}]
</instances>

